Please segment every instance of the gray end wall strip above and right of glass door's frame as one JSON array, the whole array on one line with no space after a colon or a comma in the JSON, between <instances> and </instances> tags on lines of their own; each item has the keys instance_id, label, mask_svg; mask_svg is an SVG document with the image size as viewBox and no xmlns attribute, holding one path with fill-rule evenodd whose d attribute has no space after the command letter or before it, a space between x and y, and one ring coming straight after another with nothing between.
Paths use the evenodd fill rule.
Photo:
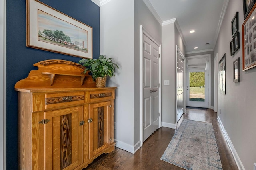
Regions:
<instances>
[{"instance_id":1,"label":"gray end wall strip above and right of glass door's frame","mask_svg":"<svg viewBox=\"0 0 256 170\"><path fill-rule=\"evenodd\" d=\"M215 57L214 51L186 54L186 57L204 55L204 54L211 55L211 106L213 107L214 106L214 57Z\"/></svg>"}]
</instances>

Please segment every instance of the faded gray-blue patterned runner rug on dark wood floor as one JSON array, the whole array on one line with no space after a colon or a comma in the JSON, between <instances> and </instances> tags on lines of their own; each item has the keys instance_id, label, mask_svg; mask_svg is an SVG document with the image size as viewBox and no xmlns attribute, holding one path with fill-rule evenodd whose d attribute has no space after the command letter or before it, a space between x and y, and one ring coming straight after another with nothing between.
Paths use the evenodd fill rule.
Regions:
<instances>
[{"instance_id":1,"label":"faded gray-blue patterned runner rug on dark wood floor","mask_svg":"<svg viewBox=\"0 0 256 170\"><path fill-rule=\"evenodd\" d=\"M212 123L184 119L161 160L186 170L222 170Z\"/></svg>"}]
</instances>

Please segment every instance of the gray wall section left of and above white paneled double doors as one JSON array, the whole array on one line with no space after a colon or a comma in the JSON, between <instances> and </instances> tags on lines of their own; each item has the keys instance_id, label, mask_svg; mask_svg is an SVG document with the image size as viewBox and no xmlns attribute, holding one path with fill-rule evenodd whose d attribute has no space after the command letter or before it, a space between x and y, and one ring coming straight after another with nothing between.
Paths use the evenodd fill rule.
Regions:
<instances>
[{"instance_id":1,"label":"gray wall section left of and above white paneled double doors","mask_svg":"<svg viewBox=\"0 0 256 170\"><path fill-rule=\"evenodd\" d=\"M161 43L162 28L142 0L134 0L134 145L140 141L140 25Z\"/></svg>"}]
</instances>

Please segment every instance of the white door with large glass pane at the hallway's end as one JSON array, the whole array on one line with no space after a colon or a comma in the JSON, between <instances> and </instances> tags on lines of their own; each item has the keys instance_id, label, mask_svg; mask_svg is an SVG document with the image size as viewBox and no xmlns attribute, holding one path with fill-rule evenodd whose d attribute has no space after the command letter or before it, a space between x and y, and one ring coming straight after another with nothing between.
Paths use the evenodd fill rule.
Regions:
<instances>
[{"instance_id":1,"label":"white door with large glass pane at the hallway's end","mask_svg":"<svg viewBox=\"0 0 256 170\"><path fill-rule=\"evenodd\" d=\"M208 108L208 57L187 57L186 66L186 106Z\"/></svg>"}]
</instances>

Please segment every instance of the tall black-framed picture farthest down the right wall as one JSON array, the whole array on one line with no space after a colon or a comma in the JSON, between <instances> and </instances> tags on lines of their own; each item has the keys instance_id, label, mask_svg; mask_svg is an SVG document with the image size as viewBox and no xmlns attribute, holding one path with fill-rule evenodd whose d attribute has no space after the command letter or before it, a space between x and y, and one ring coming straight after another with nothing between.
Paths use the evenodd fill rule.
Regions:
<instances>
[{"instance_id":1,"label":"tall black-framed picture farthest down the right wall","mask_svg":"<svg viewBox=\"0 0 256 170\"><path fill-rule=\"evenodd\" d=\"M219 61L218 74L219 92L222 94L226 94L226 53Z\"/></svg>"}]
</instances>

